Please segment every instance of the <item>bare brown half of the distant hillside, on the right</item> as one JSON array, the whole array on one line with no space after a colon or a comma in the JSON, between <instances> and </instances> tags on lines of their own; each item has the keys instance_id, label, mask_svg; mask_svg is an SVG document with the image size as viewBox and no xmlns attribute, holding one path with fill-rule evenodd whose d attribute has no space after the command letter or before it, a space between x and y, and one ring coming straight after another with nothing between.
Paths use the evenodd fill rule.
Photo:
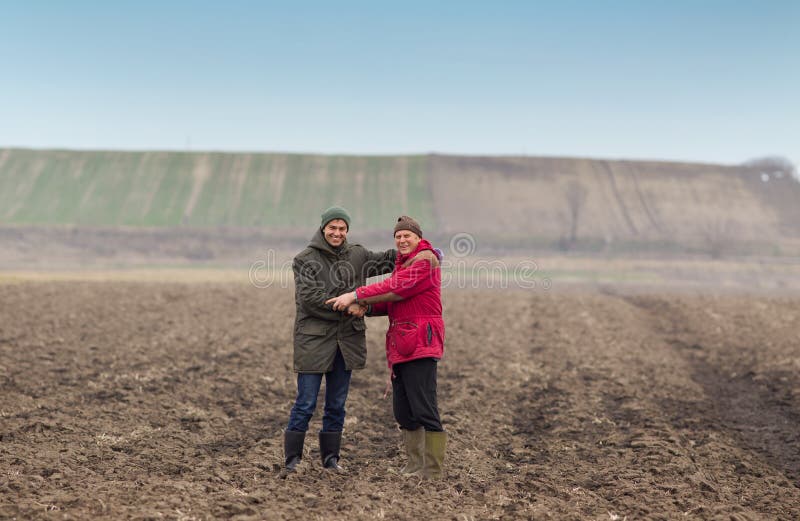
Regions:
<instances>
[{"instance_id":1,"label":"bare brown half of the distant hillside, on the right","mask_svg":"<svg viewBox=\"0 0 800 521\"><path fill-rule=\"evenodd\" d=\"M602 242L800 236L800 183L752 168L445 156L430 168L442 230Z\"/></svg>"}]
</instances>

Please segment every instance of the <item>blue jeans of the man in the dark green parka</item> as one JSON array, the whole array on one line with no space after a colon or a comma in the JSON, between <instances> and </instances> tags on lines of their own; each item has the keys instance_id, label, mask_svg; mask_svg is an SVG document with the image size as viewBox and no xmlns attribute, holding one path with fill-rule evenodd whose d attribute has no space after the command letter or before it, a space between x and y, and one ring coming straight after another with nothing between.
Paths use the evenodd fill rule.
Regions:
<instances>
[{"instance_id":1,"label":"blue jeans of the man in the dark green parka","mask_svg":"<svg viewBox=\"0 0 800 521\"><path fill-rule=\"evenodd\" d=\"M322 416L322 432L342 432L344 428L344 403L350 390L352 371L345 369L342 352L336 350L333 369L325 376L325 411ZM308 422L317 408L317 395L322 385L323 374L298 373L297 399L289 415L287 431L306 432Z\"/></svg>"}]
</instances>

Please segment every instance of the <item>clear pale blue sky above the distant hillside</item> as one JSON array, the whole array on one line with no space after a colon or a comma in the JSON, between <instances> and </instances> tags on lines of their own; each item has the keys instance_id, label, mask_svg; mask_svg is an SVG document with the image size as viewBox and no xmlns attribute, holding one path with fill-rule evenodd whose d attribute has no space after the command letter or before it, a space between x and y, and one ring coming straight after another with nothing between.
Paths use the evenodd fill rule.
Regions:
<instances>
[{"instance_id":1,"label":"clear pale blue sky above the distant hillside","mask_svg":"<svg viewBox=\"0 0 800 521\"><path fill-rule=\"evenodd\" d=\"M7 2L0 146L800 163L800 2Z\"/></svg>"}]
</instances>

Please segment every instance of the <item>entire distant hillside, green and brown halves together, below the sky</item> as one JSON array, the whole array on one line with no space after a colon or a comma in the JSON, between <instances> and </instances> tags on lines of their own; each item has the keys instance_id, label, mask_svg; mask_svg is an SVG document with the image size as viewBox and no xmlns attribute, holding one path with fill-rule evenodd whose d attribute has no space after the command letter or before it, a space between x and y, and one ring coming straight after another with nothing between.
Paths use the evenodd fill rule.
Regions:
<instances>
[{"instance_id":1,"label":"entire distant hillside, green and brown halves together, below the sky","mask_svg":"<svg viewBox=\"0 0 800 521\"><path fill-rule=\"evenodd\" d=\"M0 223L294 230L342 204L499 245L798 242L800 183L723 165L569 158L0 150ZM605 245L605 246L603 246ZM634 246L638 247L638 246Z\"/></svg>"}]
</instances>

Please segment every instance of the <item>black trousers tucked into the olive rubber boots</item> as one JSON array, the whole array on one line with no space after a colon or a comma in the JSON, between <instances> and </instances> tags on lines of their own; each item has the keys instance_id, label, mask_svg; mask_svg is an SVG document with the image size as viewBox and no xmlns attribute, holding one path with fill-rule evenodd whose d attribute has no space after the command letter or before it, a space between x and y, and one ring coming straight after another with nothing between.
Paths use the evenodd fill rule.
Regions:
<instances>
[{"instance_id":1,"label":"black trousers tucked into the olive rubber boots","mask_svg":"<svg viewBox=\"0 0 800 521\"><path fill-rule=\"evenodd\" d=\"M433 358L420 358L392 367L394 417L401 429L442 431L436 405L436 364Z\"/></svg>"}]
</instances>

